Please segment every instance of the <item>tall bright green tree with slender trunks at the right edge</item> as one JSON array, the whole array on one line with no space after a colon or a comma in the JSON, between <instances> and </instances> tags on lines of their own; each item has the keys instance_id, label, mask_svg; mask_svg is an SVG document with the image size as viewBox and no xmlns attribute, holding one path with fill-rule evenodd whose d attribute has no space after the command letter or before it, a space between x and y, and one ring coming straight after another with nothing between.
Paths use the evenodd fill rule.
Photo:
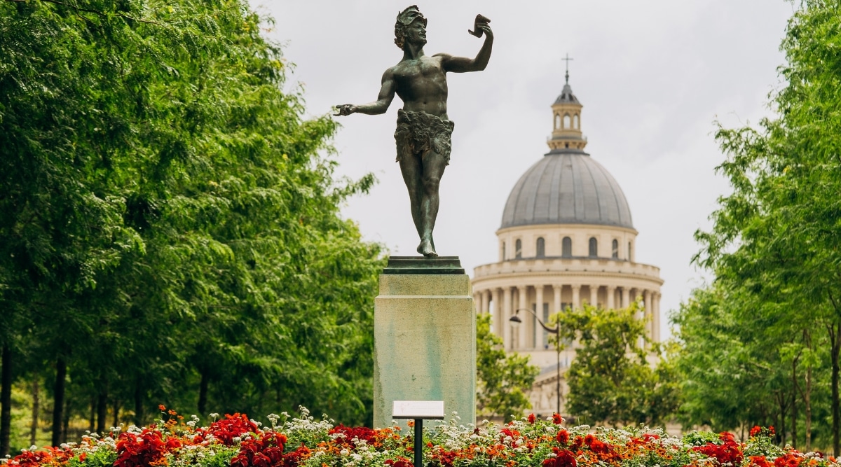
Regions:
<instances>
[{"instance_id":1,"label":"tall bright green tree with slender trunks at the right edge","mask_svg":"<svg viewBox=\"0 0 841 467\"><path fill-rule=\"evenodd\" d=\"M718 129L727 154L718 170L733 192L719 200L711 231L696 234L702 245L697 262L712 270L727 291L754 305L741 314L759 313L761 323L797 336L799 349L788 355L794 366L791 389L806 407L807 426L812 386L800 386L797 365L805 365L811 379L819 368L814 357L828 354L835 454L841 452L839 8L837 1L806 1L791 18L781 46L785 85L770 97L777 116L762 120L758 128ZM793 419L797 405L792 399ZM792 423L792 430L796 426ZM810 436L807 429L807 443Z\"/></svg>"}]
</instances>

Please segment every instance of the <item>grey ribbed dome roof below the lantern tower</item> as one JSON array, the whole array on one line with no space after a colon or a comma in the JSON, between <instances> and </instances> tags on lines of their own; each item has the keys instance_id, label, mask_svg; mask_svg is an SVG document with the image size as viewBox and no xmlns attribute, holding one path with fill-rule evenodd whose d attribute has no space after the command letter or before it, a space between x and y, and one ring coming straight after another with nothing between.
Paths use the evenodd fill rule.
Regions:
<instances>
[{"instance_id":1,"label":"grey ribbed dome roof below the lantern tower","mask_svg":"<svg viewBox=\"0 0 841 467\"><path fill-rule=\"evenodd\" d=\"M553 150L532 165L505 202L500 228L584 223L633 228L619 184L582 150Z\"/></svg>"}]
</instances>

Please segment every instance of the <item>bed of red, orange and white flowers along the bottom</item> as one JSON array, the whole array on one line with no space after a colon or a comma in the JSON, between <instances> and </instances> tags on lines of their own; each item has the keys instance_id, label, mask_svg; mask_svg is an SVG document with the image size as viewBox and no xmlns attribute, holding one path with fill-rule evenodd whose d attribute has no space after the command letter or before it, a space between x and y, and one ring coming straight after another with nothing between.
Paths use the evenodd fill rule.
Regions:
<instances>
[{"instance_id":1,"label":"bed of red, orange and white flowers along the bottom","mask_svg":"<svg viewBox=\"0 0 841 467\"><path fill-rule=\"evenodd\" d=\"M145 467L412 467L413 440L399 428L350 428L332 420L316 421L302 408L299 417L270 415L263 427L241 414L225 415L209 427L176 412L145 428L114 429L103 437L60 448L32 449L6 465ZM215 418L215 417L214 417ZM326 417L325 417L326 418ZM479 427L455 423L425 429L425 464L443 467L533 465L584 466L839 466L819 453L780 449L773 428L756 427L746 442L732 433L692 432L673 437L659 429L564 427L563 420L534 416L518 422Z\"/></svg>"}]
</instances>

